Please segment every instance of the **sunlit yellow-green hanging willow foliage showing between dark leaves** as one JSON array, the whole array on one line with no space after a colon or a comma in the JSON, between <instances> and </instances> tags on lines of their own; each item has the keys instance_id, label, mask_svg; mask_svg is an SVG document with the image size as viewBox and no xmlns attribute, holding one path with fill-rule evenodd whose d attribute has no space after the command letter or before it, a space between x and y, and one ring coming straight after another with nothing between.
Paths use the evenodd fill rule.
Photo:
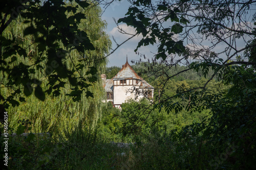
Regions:
<instances>
[{"instance_id":1,"label":"sunlit yellow-green hanging willow foliage showing between dark leaves","mask_svg":"<svg viewBox=\"0 0 256 170\"><path fill-rule=\"evenodd\" d=\"M73 6L75 4L72 4ZM14 96L14 99L23 99L17 107L9 107L9 127L17 128L18 120L29 119L32 123L33 132L52 132L53 134L63 134L63 129L69 131L74 130L78 125L84 128L95 127L97 120L100 118L101 107L103 106L102 100L105 98L105 92L102 87L100 74L104 72L107 60L104 58L109 53L111 47L110 37L104 32L106 22L102 21L99 17L101 9L99 6L89 6L87 9L79 8L80 12L86 15L87 19L81 19L79 29L88 34L95 50L88 50L78 52L77 50L69 51L62 63L66 64L69 69L75 70L77 77L82 76L87 79L92 77L98 78L98 81L91 83L92 86L88 87L94 96L87 96L86 92L82 92L79 101L73 101L72 96L69 96L71 89L75 88L72 83L65 84L65 88L61 88L60 95L54 96L46 93L45 101L40 101L35 95L25 96L23 93ZM72 16L72 12L68 14ZM63 20L65 22L65 20ZM27 65L33 64L38 58L37 44L34 43L33 35L24 36L24 30L28 27L27 23L21 17L17 17L5 29L3 36L8 39L14 39L19 44L22 44L26 49L29 57L19 57L15 62L10 63L10 67L14 68L19 63ZM60 42L61 44L61 42ZM43 54L44 56L45 54ZM11 57L8 58L12 60ZM83 63L84 67L79 68L79 64ZM46 62L41 62L42 68L46 68ZM97 69L95 75L90 75L87 72L92 68ZM49 89L49 80L45 77L45 71L42 69L35 69L34 77L41 81L40 87L43 91ZM21 89L22 85L9 88L6 84L8 75L3 71L0 74L1 80L1 94L8 98L12 92ZM62 81L66 81L63 79ZM72 80L70 80L72 81ZM90 84L90 83L89 83Z\"/></svg>"}]
</instances>

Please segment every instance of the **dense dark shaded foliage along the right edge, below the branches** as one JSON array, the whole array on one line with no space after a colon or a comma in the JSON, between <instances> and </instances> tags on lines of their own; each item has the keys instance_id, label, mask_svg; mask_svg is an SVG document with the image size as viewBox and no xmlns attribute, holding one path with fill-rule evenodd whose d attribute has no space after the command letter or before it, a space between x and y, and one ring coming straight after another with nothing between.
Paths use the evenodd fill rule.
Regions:
<instances>
[{"instance_id":1,"label":"dense dark shaded foliage along the right edge, below the branches","mask_svg":"<svg viewBox=\"0 0 256 170\"><path fill-rule=\"evenodd\" d=\"M207 133L212 134L213 142L236 143L239 148L234 153L237 159L234 165L250 168L254 166L252 158L255 157L256 75L253 69L245 69L243 66L232 66L229 69L224 80L229 82L229 76L232 75L230 83L233 85L221 100L210 105L213 116Z\"/></svg>"}]
</instances>

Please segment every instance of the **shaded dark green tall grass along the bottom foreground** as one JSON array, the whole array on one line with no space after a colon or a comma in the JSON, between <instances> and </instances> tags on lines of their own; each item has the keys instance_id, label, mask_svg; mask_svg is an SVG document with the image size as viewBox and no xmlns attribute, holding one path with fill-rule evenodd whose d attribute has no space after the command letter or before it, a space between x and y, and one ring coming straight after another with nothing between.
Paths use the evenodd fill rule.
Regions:
<instances>
[{"instance_id":1,"label":"shaded dark green tall grass along the bottom foreground","mask_svg":"<svg viewBox=\"0 0 256 170\"><path fill-rule=\"evenodd\" d=\"M232 153L221 162L216 146L209 146L200 137L175 135L137 136L129 147L118 147L103 140L96 130L80 127L66 131L65 138L49 136L14 136L9 139L9 169L218 169L234 168ZM143 141L143 142L141 142ZM3 143L3 137L1 137ZM224 148L225 149L225 148ZM225 150L224 150L225 151ZM231 163L230 163L231 162Z\"/></svg>"}]
</instances>

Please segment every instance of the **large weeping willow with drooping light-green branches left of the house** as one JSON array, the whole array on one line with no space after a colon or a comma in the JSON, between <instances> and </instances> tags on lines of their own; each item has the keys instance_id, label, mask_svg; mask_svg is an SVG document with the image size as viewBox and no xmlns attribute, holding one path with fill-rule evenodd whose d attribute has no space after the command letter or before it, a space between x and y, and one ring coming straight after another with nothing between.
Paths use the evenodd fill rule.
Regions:
<instances>
[{"instance_id":1,"label":"large weeping willow with drooping light-green branches left of the house","mask_svg":"<svg viewBox=\"0 0 256 170\"><path fill-rule=\"evenodd\" d=\"M89 2L1 2L1 104L35 132L94 127L111 41ZM13 12L14 11L14 12Z\"/></svg>"}]
</instances>

